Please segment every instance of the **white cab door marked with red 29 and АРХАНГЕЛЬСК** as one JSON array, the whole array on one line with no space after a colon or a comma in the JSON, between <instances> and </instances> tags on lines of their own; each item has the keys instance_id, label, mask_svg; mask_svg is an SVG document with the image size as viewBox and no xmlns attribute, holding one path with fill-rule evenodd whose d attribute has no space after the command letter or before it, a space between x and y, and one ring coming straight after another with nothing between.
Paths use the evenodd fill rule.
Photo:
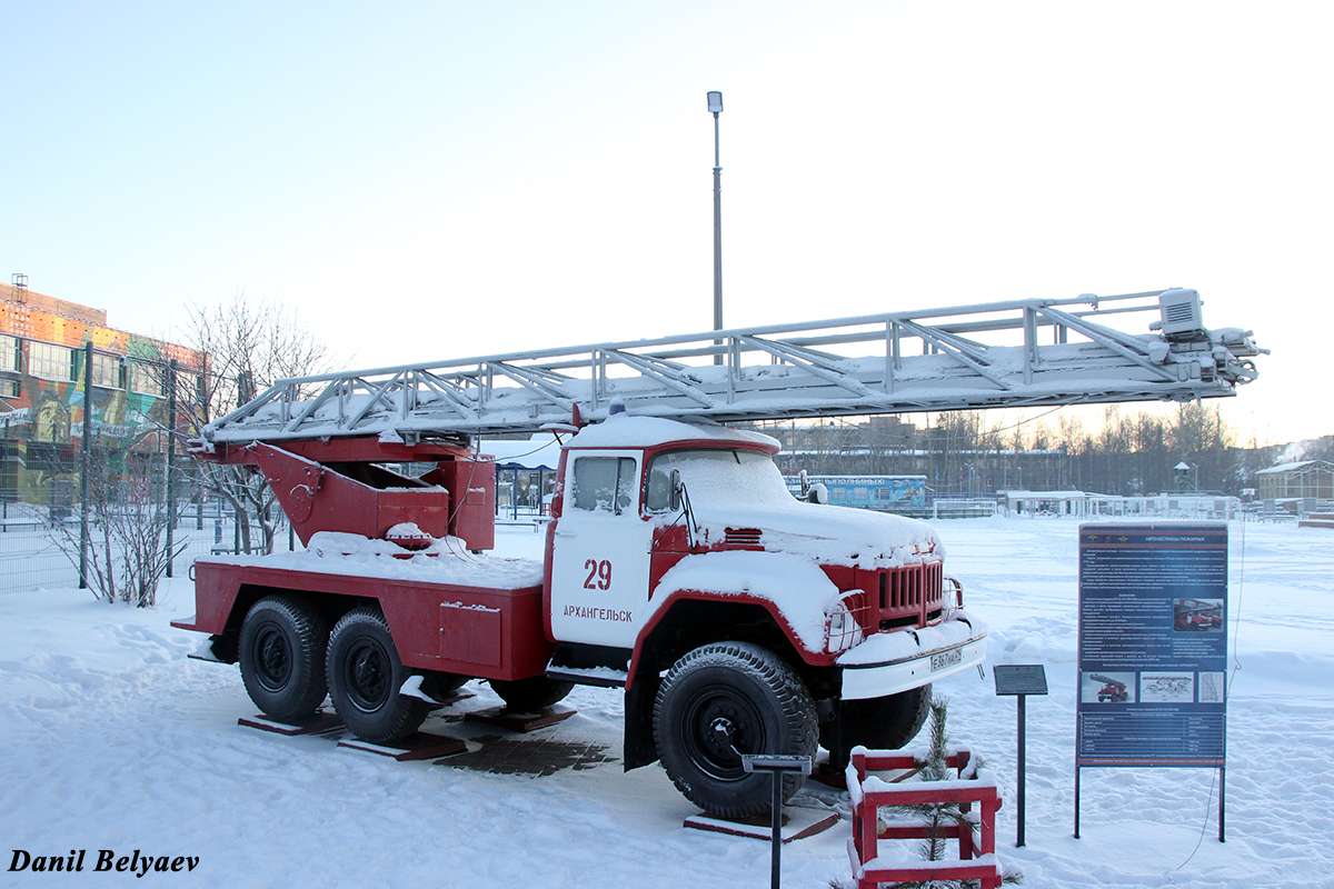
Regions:
<instances>
[{"instance_id":1,"label":"white cab door marked with red 29 and \u0410\u0420\u0425\u0410\u041d\u0413\u0415\u041b\u042c\u0421\u041a","mask_svg":"<svg viewBox=\"0 0 1334 889\"><path fill-rule=\"evenodd\" d=\"M560 642L632 648L648 605L654 524L640 516L643 454L567 457L552 533L551 632Z\"/></svg>"}]
</instances>

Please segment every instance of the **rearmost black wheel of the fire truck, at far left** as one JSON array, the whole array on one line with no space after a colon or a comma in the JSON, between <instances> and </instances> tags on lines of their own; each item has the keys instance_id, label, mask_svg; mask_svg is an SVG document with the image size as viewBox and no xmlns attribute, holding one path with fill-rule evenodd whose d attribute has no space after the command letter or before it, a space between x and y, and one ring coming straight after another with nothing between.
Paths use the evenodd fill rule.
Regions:
<instances>
[{"instance_id":1,"label":"rearmost black wheel of the fire truck, at far left","mask_svg":"<svg viewBox=\"0 0 1334 889\"><path fill-rule=\"evenodd\" d=\"M291 720L313 713L328 693L324 616L296 596L268 596L241 622L237 660L245 692L267 716Z\"/></svg>"}]
</instances>

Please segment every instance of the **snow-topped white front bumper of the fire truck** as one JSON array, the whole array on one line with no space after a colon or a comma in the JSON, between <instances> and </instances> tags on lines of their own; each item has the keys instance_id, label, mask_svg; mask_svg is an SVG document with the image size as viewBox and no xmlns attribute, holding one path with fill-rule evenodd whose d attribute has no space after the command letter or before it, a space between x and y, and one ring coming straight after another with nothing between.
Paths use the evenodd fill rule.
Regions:
<instances>
[{"instance_id":1,"label":"snow-topped white front bumper of the fire truck","mask_svg":"<svg viewBox=\"0 0 1334 889\"><path fill-rule=\"evenodd\" d=\"M838 657L842 697L898 694L976 666L986 654L986 625L962 610L935 626L875 633Z\"/></svg>"}]
</instances>

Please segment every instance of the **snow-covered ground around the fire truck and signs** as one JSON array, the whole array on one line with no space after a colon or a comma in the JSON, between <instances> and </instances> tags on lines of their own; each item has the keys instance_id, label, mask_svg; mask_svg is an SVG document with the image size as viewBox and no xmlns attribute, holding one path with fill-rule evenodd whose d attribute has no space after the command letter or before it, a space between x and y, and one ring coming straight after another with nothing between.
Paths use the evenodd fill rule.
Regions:
<instances>
[{"instance_id":1,"label":"snow-covered ground around the fire truck and signs","mask_svg":"<svg viewBox=\"0 0 1334 889\"><path fill-rule=\"evenodd\" d=\"M1074 818L1075 534L1063 520L939 522L950 572L991 625L990 661L1041 662L1029 702L1027 845L1014 848L1015 704L990 676L952 677L951 734L1006 782L999 852L1030 889L1330 886L1334 874L1334 534L1233 525L1237 672L1229 716L1227 842L1211 770L1098 769ZM540 537L502 528L499 552ZM255 713L236 668L187 660L188 580L153 612L72 589L7 592L0 578L0 885L767 886L755 840L682 828L695 810L658 766L623 773L620 700L576 689L579 713L531 736L611 762L548 777L394 762L329 738L240 728ZM455 709L498 704L484 685ZM432 717L426 729L471 732ZM476 746L476 742L474 744ZM795 805L847 812L844 794ZM783 885L850 881L844 820L783 850ZM1198 848L1197 848L1198 846ZM81 873L7 870L15 850L69 856ZM93 873L115 856L196 857L193 872Z\"/></svg>"}]
</instances>

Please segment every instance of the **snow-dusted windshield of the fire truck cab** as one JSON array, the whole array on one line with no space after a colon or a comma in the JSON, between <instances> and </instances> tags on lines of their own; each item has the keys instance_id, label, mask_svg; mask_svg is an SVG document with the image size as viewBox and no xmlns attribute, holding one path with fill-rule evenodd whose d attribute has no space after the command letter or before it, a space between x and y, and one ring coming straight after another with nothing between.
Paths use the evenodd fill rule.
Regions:
<instances>
[{"instance_id":1,"label":"snow-dusted windshield of the fire truck cab","mask_svg":"<svg viewBox=\"0 0 1334 889\"><path fill-rule=\"evenodd\" d=\"M671 470L679 469L695 509L791 505L792 496L767 453L723 448L667 450L648 464L648 512L671 508Z\"/></svg>"}]
</instances>

